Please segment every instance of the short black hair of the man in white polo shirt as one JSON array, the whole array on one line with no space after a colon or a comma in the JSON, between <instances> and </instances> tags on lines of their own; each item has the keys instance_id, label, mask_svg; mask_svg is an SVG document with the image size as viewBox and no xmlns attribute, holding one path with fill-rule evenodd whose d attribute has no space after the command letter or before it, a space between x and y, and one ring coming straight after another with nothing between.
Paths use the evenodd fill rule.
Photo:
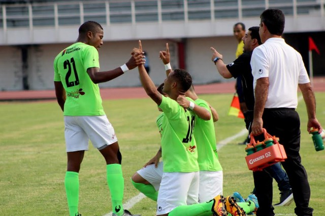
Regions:
<instances>
[{"instance_id":1,"label":"short black hair of the man in white polo shirt","mask_svg":"<svg viewBox=\"0 0 325 216\"><path fill-rule=\"evenodd\" d=\"M281 36L284 31L284 14L280 9L271 8L263 11L260 16L271 34Z\"/></svg>"}]
</instances>

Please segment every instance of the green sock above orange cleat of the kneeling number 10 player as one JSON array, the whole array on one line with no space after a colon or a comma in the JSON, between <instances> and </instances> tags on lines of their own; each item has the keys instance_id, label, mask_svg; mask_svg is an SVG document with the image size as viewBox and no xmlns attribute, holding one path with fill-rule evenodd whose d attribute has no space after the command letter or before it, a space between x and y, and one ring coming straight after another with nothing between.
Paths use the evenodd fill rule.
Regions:
<instances>
[{"instance_id":1,"label":"green sock above orange cleat of the kneeling number 10 player","mask_svg":"<svg viewBox=\"0 0 325 216\"><path fill-rule=\"evenodd\" d=\"M213 200L209 202L203 202L193 205L181 205L174 208L171 212L169 212L169 216L198 216L198 215L211 215L212 214L212 205ZM209 213L209 214L205 214Z\"/></svg>"}]
</instances>

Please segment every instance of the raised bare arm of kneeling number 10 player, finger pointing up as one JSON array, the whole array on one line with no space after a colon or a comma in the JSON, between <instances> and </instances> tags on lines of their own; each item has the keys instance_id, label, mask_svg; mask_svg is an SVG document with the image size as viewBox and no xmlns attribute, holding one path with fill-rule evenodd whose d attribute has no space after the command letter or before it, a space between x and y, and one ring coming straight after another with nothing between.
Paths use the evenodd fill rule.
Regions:
<instances>
[{"instance_id":1,"label":"raised bare arm of kneeling number 10 player, finger pointing up","mask_svg":"<svg viewBox=\"0 0 325 216\"><path fill-rule=\"evenodd\" d=\"M141 40L139 40L139 49L133 49L134 55L137 53L142 53L142 45ZM163 100L163 96L157 91L156 86L154 85L153 81L151 80L150 76L148 75L144 65L140 65L138 67L140 80L144 90L146 91L147 95L157 104L160 105L161 101Z\"/></svg>"}]
</instances>

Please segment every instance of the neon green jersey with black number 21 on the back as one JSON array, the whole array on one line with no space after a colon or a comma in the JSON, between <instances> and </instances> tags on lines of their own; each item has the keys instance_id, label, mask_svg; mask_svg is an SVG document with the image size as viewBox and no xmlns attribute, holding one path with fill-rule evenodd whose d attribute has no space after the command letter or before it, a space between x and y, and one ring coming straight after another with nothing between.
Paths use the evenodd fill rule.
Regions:
<instances>
[{"instance_id":1,"label":"neon green jersey with black number 21 on the back","mask_svg":"<svg viewBox=\"0 0 325 216\"><path fill-rule=\"evenodd\" d=\"M61 51L54 60L54 81L66 90L64 115L105 115L98 84L91 81L87 69L100 67L98 51L77 42Z\"/></svg>"}]
</instances>

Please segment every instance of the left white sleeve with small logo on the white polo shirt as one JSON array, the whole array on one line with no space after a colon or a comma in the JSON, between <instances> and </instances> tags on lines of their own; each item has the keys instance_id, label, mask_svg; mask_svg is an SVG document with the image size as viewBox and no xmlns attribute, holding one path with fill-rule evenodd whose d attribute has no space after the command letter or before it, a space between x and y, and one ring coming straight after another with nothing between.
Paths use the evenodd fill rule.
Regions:
<instances>
[{"instance_id":1,"label":"left white sleeve with small logo on the white polo shirt","mask_svg":"<svg viewBox=\"0 0 325 216\"><path fill-rule=\"evenodd\" d=\"M269 77L269 61L268 57L266 56L266 52L257 47L253 50L252 58L250 60L250 66L252 68L252 75L254 80L263 77Z\"/></svg>"}]
</instances>

